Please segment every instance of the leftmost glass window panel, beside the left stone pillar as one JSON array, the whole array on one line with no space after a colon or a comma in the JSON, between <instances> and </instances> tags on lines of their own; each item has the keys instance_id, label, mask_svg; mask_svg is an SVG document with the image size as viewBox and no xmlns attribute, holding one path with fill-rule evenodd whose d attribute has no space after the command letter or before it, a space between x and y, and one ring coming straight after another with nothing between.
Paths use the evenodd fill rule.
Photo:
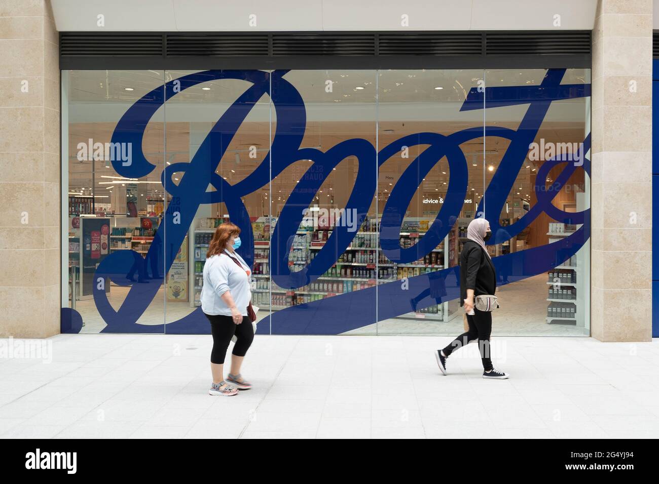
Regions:
<instances>
[{"instance_id":1,"label":"leftmost glass window panel, beside the left stone pillar","mask_svg":"<svg viewBox=\"0 0 659 484\"><path fill-rule=\"evenodd\" d=\"M63 76L69 133L64 269L72 308L62 318L64 332L163 331L163 75L72 70Z\"/></svg>"}]
</instances>

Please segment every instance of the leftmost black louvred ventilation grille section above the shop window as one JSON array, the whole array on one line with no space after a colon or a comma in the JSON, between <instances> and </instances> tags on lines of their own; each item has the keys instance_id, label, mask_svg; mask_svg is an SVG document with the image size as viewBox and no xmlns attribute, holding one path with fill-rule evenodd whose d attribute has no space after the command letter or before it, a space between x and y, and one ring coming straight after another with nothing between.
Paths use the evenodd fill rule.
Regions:
<instances>
[{"instance_id":1,"label":"leftmost black louvred ventilation grille section above the shop window","mask_svg":"<svg viewBox=\"0 0 659 484\"><path fill-rule=\"evenodd\" d=\"M162 55L162 34L66 32L59 36L59 55Z\"/></svg>"}]
</instances>

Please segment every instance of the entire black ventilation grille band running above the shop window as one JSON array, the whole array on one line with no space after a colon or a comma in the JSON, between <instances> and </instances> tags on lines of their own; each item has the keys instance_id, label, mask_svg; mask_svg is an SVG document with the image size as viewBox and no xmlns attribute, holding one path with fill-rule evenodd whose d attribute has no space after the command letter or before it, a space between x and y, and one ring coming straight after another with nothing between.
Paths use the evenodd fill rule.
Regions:
<instances>
[{"instance_id":1,"label":"entire black ventilation grille band running above the shop window","mask_svg":"<svg viewBox=\"0 0 659 484\"><path fill-rule=\"evenodd\" d=\"M590 67L590 31L582 30L60 32L59 38L62 69Z\"/></svg>"}]
</instances>

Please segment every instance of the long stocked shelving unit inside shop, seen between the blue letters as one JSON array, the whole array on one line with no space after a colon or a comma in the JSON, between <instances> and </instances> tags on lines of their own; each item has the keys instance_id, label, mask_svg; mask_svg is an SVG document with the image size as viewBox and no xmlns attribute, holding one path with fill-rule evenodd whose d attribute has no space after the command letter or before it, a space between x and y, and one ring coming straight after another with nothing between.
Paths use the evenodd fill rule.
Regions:
<instances>
[{"instance_id":1,"label":"long stocked shelving unit inside shop, seen between the blue letters","mask_svg":"<svg viewBox=\"0 0 659 484\"><path fill-rule=\"evenodd\" d=\"M405 219L403 227L415 227L419 219ZM200 223L194 229L194 248L190 258L191 281L193 298L190 298L192 306L200 305L200 294L203 285L202 273L206 261L208 242L215 228L215 219L208 219ZM254 234L254 265L252 267L252 302L261 309L285 309L291 306L305 304L363 288L373 287L376 284L396 281L403 277L414 277L423 273L443 269L447 267L447 254L445 254L445 241L426 256L426 260L417 263L396 264L392 263L384 254L379 245L379 223L375 217L366 219L360 230L355 234L351 246L349 246L339 260L332 267L318 277L316 281L293 290L280 288L270 281L270 233L276 224L276 217L256 217L252 221L252 233ZM405 225L405 223L411 225ZM204 227L200 227L203 225ZM295 239L291 244L289 263L291 271L296 271L308 265L315 254L322 249L331 233L330 228L304 227L297 230ZM425 230L405 230L400 232L401 246L405 247L405 239L409 240L423 236ZM436 255L433 255L436 254ZM379 277L376 277L378 276ZM272 284L272 286L271 286ZM447 315L447 303L436 304L428 308L422 308L416 313L401 315L403 319L426 318L435 321L445 321Z\"/></svg>"}]
</instances>

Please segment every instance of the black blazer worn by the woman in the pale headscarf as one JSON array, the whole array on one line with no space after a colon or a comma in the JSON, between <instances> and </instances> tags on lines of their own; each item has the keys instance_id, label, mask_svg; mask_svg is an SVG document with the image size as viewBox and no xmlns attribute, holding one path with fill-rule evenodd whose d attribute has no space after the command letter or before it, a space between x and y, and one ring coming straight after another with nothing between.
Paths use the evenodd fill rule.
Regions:
<instances>
[{"instance_id":1,"label":"black blazer worn by the woman in the pale headscarf","mask_svg":"<svg viewBox=\"0 0 659 484\"><path fill-rule=\"evenodd\" d=\"M467 289L473 289L474 296L494 294L496 291L496 271L492 260L473 240L467 240L460 252L460 306L465 304Z\"/></svg>"}]
</instances>

